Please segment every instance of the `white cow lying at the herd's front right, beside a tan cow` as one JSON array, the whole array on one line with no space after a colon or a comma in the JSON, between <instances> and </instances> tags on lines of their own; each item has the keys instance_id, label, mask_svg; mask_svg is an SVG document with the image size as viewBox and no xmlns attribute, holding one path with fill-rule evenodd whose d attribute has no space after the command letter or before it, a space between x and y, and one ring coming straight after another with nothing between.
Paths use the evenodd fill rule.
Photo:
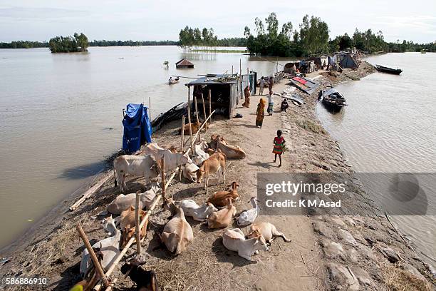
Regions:
<instances>
[{"instance_id":1,"label":"white cow lying at the herd's front right, beside a tan cow","mask_svg":"<svg viewBox=\"0 0 436 291\"><path fill-rule=\"evenodd\" d=\"M226 230L222 235L222 244L228 250L238 252L239 257L251 261L251 256L259 250L269 250L264 241L261 240L261 236L256 238L245 239L244 233L239 228L233 230Z\"/></svg>"}]
</instances>

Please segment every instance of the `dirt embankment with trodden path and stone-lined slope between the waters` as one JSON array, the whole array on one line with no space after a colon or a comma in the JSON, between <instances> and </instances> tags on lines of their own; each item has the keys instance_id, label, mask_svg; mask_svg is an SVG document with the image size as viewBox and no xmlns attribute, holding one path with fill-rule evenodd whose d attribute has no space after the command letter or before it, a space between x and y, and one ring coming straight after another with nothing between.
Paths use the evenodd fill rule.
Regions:
<instances>
[{"instance_id":1,"label":"dirt embankment with trodden path and stone-lined slope between the waters","mask_svg":"<svg viewBox=\"0 0 436 291\"><path fill-rule=\"evenodd\" d=\"M334 86L342 81L357 80L372 72L373 68L363 63L358 71L347 70L338 76L323 73L317 81L321 81L321 88L324 88L328 84ZM274 91L281 93L287 87L285 80L274 86ZM251 208L248 201L256 196L258 172L351 172L338 144L316 119L317 93L311 96L299 93L306 104L290 104L287 113L279 112L281 98L274 96L274 114L265 116L262 128L255 126L259 96L252 96L250 108L242 108L242 102L237 106L237 113L244 118L214 120L207 136L202 133L207 141L215 133L246 150L244 160L228 160L227 163L227 183L235 180L241 185L241 200L236 205L238 212ZM155 141L179 146L178 126L179 122L165 126L156 133ZM274 156L271 153L272 141L279 128L284 131L289 149L284 154L281 168L278 163L272 163ZM216 181L211 179L209 193L222 189ZM128 185L132 192L144 187L141 178L130 179ZM105 205L118 194L118 188L114 188L113 180L110 180L73 213L66 211L73 198L66 200L48 216L46 223L28 233L25 241L17 243L8 254L2 254L12 259L0 268L0 277L48 277L49 285L43 290L68 290L79 279L78 264L83 250L74 225L83 223L90 239L104 238L100 227L102 218L95 218L95 215L105 210ZM207 200L203 188L187 180L175 179L167 195L175 200L194 199L199 204ZM372 211L358 187L355 197L346 203ZM430 286L426 287L427 281L420 280L424 278L420 272L428 275L425 266L415 260L415 252L407 247L388 220L377 215L261 216L259 221L273 223L292 242L286 243L281 238L274 240L269 252L254 256L256 262L246 261L227 250L222 245L224 230L208 230L190 218L194 241L181 255L172 256L160 247L157 237L169 215L162 208L155 210L142 244L147 261L145 267L157 272L162 290L387 290L389 287L400 290L394 287L410 282L415 284L415 289L404 290L430 290ZM237 227L236 224L233 227ZM242 231L246 233L245 228ZM135 246L128 251L126 260L134 255ZM132 283L123 278L118 269L113 276L119 279L115 290L130 290Z\"/></svg>"}]
</instances>

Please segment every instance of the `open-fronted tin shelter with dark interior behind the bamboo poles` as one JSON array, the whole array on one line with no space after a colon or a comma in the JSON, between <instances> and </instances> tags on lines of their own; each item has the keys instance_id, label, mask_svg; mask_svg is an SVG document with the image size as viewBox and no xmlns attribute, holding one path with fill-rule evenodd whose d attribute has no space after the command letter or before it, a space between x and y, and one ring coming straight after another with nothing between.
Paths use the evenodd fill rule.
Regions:
<instances>
[{"instance_id":1,"label":"open-fronted tin shelter with dark interior behind the bamboo poles","mask_svg":"<svg viewBox=\"0 0 436 291\"><path fill-rule=\"evenodd\" d=\"M215 111L215 114L221 114L227 118L231 118L234 108L238 103L239 90L237 86L237 78L232 75L214 75L208 74L202 78L198 78L186 86L192 87L192 100L197 97L197 106L199 108L199 116L202 116L202 94L204 98L204 106L207 114L209 114L209 90L211 93L210 111ZM191 112L194 112L194 103L192 102Z\"/></svg>"}]
</instances>

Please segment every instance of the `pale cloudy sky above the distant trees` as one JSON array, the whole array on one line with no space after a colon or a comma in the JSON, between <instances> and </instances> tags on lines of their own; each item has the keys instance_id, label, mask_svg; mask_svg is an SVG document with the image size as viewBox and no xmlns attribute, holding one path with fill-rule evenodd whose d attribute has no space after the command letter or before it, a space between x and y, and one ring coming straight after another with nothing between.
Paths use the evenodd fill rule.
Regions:
<instances>
[{"instance_id":1,"label":"pale cloudy sky above the distant trees","mask_svg":"<svg viewBox=\"0 0 436 291\"><path fill-rule=\"evenodd\" d=\"M355 29L383 31L386 41L436 41L435 0L1 0L0 41L48 41L83 32L88 39L178 40L185 26L212 27L224 37L254 32L254 19L276 12L279 26L298 28L305 14L320 17L330 37Z\"/></svg>"}]
</instances>

